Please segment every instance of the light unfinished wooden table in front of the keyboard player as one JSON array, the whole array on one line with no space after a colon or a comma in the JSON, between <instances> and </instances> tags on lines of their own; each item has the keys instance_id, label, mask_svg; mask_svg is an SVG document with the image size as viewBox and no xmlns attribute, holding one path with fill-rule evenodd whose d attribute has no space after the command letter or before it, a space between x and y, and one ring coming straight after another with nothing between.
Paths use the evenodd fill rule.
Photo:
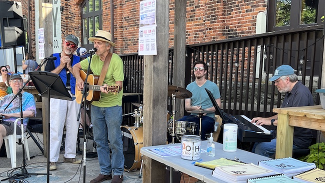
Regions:
<instances>
[{"instance_id":1,"label":"light unfinished wooden table in front of the keyboard player","mask_svg":"<svg viewBox=\"0 0 325 183\"><path fill-rule=\"evenodd\" d=\"M325 130L321 105L273 108L277 113L275 158L292 157L293 126Z\"/></svg>"}]
</instances>

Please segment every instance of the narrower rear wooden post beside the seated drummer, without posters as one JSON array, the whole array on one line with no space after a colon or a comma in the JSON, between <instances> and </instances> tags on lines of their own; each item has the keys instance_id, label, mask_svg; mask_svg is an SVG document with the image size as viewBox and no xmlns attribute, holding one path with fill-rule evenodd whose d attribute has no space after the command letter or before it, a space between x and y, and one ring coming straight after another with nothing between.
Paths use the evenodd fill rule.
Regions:
<instances>
[{"instance_id":1,"label":"narrower rear wooden post beside the seated drummer, without posters","mask_svg":"<svg viewBox=\"0 0 325 183\"><path fill-rule=\"evenodd\" d=\"M186 0L175 1L173 85L185 88ZM190 63L188 63L190 64ZM175 100L175 119L184 113L184 99Z\"/></svg>"}]
</instances>

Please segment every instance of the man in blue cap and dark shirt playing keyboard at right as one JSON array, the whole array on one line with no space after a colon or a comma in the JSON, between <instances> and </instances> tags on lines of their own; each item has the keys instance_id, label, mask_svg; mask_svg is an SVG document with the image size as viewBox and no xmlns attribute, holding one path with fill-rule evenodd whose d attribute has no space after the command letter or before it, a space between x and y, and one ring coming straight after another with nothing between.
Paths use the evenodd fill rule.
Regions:
<instances>
[{"instance_id":1,"label":"man in blue cap and dark shirt playing keyboard at right","mask_svg":"<svg viewBox=\"0 0 325 183\"><path fill-rule=\"evenodd\" d=\"M274 85L281 93L285 93L281 107L308 106L313 105L313 99L310 90L298 81L298 76L290 65L280 65L274 70L274 74L270 81L274 81ZM277 114L271 117L254 117L251 122L256 125L277 126ZM276 137L276 129L272 132ZM292 149L308 148L312 139L312 130L302 127L294 127L293 146ZM273 157L275 154L276 138L270 142L256 142L252 148L252 152Z\"/></svg>"}]
</instances>

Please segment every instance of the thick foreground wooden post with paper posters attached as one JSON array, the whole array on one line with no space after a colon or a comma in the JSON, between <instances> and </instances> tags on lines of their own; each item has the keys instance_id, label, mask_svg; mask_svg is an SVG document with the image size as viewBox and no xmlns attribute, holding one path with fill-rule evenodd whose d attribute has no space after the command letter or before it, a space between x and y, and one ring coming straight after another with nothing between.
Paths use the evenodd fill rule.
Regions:
<instances>
[{"instance_id":1,"label":"thick foreground wooden post with paper posters attached","mask_svg":"<svg viewBox=\"0 0 325 183\"><path fill-rule=\"evenodd\" d=\"M169 0L156 0L156 23L157 55L144 56L144 146L166 143ZM143 156L142 182L164 182L164 177L165 165Z\"/></svg>"}]
</instances>

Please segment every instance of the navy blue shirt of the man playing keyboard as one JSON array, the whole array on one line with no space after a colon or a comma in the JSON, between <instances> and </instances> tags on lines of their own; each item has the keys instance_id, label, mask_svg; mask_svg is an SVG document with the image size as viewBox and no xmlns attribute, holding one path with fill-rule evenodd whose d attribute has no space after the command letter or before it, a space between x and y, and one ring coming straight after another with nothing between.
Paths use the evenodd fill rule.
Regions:
<instances>
[{"instance_id":1,"label":"navy blue shirt of the man playing keyboard","mask_svg":"<svg viewBox=\"0 0 325 183\"><path fill-rule=\"evenodd\" d=\"M313 105L310 90L300 81L294 84L291 91L285 94L281 107L295 107ZM312 130L302 127L294 127L293 144L300 148L307 148L312 139Z\"/></svg>"}]
</instances>

